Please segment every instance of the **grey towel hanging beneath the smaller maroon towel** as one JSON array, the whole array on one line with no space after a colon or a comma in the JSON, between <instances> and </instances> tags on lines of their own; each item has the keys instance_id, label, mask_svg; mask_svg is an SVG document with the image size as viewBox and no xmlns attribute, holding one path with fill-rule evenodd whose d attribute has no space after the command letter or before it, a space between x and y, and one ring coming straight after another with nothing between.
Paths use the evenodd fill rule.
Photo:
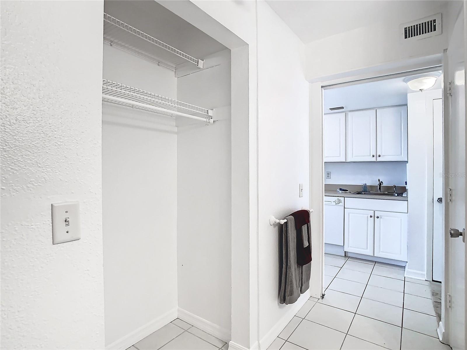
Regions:
<instances>
[{"instance_id":1,"label":"grey towel hanging beneath the smaller maroon towel","mask_svg":"<svg viewBox=\"0 0 467 350\"><path fill-rule=\"evenodd\" d=\"M286 219L287 222L282 225L282 247L280 247L282 256L279 261L279 302L292 304L297 301L300 294L303 294L310 287L311 263L304 266L297 264L297 237L301 235L297 235L294 217L289 216ZM307 224L305 231L307 238L310 237L310 224ZM301 228L298 232L302 233L303 229ZM310 241L309 245L311 245Z\"/></svg>"}]
</instances>

